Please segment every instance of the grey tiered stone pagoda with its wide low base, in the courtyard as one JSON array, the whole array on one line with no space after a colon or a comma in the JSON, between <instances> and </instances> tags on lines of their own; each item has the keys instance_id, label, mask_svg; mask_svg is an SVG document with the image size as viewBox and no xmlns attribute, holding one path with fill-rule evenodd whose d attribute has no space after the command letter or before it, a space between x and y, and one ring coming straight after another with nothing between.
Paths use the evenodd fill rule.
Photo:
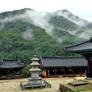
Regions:
<instances>
[{"instance_id":1,"label":"grey tiered stone pagoda with its wide low base, in the courtyard","mask_svg":"<svg viewBox=\"0 0 92 92\"><path fill-rule=\"evenodd\" d=\"M51 87L51 85L48 82L42 80L42 78L39 76L41 72L41 69L39 68L39 58L37 58L37 56L34 55L34 57L31 60L31 69L29 69L29 71L31 72L31 77L28 79L28 82L26 84L23 84L23 82L20 83L21 88L28 89Z\"/></svg>"}]
</instances>

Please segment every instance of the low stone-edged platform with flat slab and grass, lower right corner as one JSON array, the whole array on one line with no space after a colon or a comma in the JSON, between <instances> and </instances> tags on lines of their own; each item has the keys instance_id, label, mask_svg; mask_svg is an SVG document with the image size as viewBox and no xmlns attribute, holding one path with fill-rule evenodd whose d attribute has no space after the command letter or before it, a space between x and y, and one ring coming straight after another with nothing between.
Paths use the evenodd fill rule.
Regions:
<instances>
[{"instance_id":1,"label":"low stone-edged platform with flat slab and grass, lower right corner","mask_svg":"<svg viewBox=\"0 0 92 92\"><path fill-rule=\"evenodd\" d=\"M92 83L83 80L74 80L68 84L60 84L60 92L76 91L76 90L89 90L92 89Z\"/></svg>"}]
</instances>

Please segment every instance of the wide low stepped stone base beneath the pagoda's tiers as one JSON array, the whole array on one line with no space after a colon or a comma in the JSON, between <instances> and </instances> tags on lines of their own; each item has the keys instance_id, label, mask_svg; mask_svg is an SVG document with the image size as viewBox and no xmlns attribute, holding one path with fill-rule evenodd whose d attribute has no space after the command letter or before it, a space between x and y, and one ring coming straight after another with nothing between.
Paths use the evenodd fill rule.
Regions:
<instances>
[{"instance_id":1,"label":"wide low stepped stone base beneath the pagoda's tiers","mask_svg":"<svg viewBox=\"0 0 92 92\"><path fill-rule=\"evenodd\" d=\"M28 82L20 83L21 89L33 89L33 88L46 88L49 87L51 88L51 84L46 82L45 80L42 80L40 77L39 78L29 78Z\"/></svg>"}]
</instances>

